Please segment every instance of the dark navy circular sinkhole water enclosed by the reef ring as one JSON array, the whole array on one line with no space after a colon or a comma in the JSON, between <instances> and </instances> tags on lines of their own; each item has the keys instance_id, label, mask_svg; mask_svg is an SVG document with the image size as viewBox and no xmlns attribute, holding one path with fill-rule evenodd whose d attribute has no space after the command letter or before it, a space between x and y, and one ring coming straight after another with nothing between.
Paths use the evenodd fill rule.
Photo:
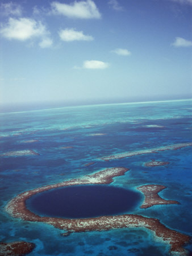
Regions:
<instances>
[{"instance_id":1,"label":"dark navy circular sinkhole water enclosed by the reef ring","mask_svg":"<svg viewBox=\"0 0 192 256\"><path fill-rule=\"evenodd\" d=\"M140 199L130 189L74 185L38 193L27 200L27 208L40 216L86 218L128 212Z\"/></svg>"}]
</instances>

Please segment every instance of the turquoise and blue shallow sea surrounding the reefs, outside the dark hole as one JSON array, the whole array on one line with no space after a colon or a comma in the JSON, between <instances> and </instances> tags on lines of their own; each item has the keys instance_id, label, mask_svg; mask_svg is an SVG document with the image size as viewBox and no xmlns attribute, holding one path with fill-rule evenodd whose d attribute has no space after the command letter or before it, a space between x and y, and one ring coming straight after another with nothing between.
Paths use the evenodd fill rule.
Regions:
<instances>
[{"instance_id":1,"label":"turquoise and blue shallow sea surrounding the reefs, outside the dark hole","mask_svg":"<svg viewBox=\"0 0 192 256\"><path fill-rule=\"evenodd\" d=\"M106 167L130 168L111 184L136 189L160 184L164 199L179 205L156 205L131 213L158 218L192 237L191 147L99 160L102 156L191 142L192 101L108 104L0 114L0 154L34 150L40 155L2 156L0 172L0 241L24 240L36 248L29 255L169 255L169 246L147 229L74 233L12 218L4 210L12 197L28 189L89 175ZM34 142L28 142L32 141ZM155 159L166 166L146 167ZM85 164L94 162L90 166ZM130 213L130 212L129 212ZM192 251L189 243L186 248Z\"/></svg>"}]
</instances>

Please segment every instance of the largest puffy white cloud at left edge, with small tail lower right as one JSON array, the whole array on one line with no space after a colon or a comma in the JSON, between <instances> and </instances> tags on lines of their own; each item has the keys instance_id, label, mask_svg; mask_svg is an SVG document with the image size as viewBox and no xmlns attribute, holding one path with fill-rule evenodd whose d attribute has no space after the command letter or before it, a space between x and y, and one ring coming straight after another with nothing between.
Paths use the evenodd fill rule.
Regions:
<instances>
[{"instance_id":1,"label":"largest puffy white cloud at left edge, with small tail lower right","mask_svg":"<svg viewBox=\"0 0 192 256\"><path fill-rule=\"evenodd\" d=\"M47 48L52 45L47 28L41 22L36 22L36 20L30 18L9 18L6 24L1 24L0 34L6 39L19 41L40 38L39 46L41 48Z\"/></svg>"}]
</instances>

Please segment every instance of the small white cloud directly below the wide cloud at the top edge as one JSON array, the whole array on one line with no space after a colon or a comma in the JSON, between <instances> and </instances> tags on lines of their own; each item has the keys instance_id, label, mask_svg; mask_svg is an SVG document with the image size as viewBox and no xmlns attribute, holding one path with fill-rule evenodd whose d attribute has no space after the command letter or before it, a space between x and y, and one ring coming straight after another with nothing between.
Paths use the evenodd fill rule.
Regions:
<instances>
[{"instance_id":1,"label":"small white cloud directly below the wide cloud at the top edge","mask_svg":"<svg viewBox=\"0 0 192 256\"><path fill-rule=\"evenodd\" d=\"M84 35L83 31L76 31L74 28L66 28L65 30L59 31L61 40L66 42L71 41L92 41L94 38L90 35Z\"/></svg>"}]
</instances>

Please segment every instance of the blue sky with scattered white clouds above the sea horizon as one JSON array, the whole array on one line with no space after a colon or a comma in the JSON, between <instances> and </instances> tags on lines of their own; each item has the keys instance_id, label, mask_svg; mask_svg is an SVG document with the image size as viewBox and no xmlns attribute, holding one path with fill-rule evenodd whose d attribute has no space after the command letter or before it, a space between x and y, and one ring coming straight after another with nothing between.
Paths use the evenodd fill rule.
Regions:
<instances>
[{"instance_id":1,"label":"blue sky with scattered white clouds above the sea horizon","mask_svg":"<svg viewBox=\"0 0 192 256\"><path fill-rule=\"evenodd\" d=\"M192 96L192 0L0 1L0 102Z\"/></svg>"}]
</instances>

